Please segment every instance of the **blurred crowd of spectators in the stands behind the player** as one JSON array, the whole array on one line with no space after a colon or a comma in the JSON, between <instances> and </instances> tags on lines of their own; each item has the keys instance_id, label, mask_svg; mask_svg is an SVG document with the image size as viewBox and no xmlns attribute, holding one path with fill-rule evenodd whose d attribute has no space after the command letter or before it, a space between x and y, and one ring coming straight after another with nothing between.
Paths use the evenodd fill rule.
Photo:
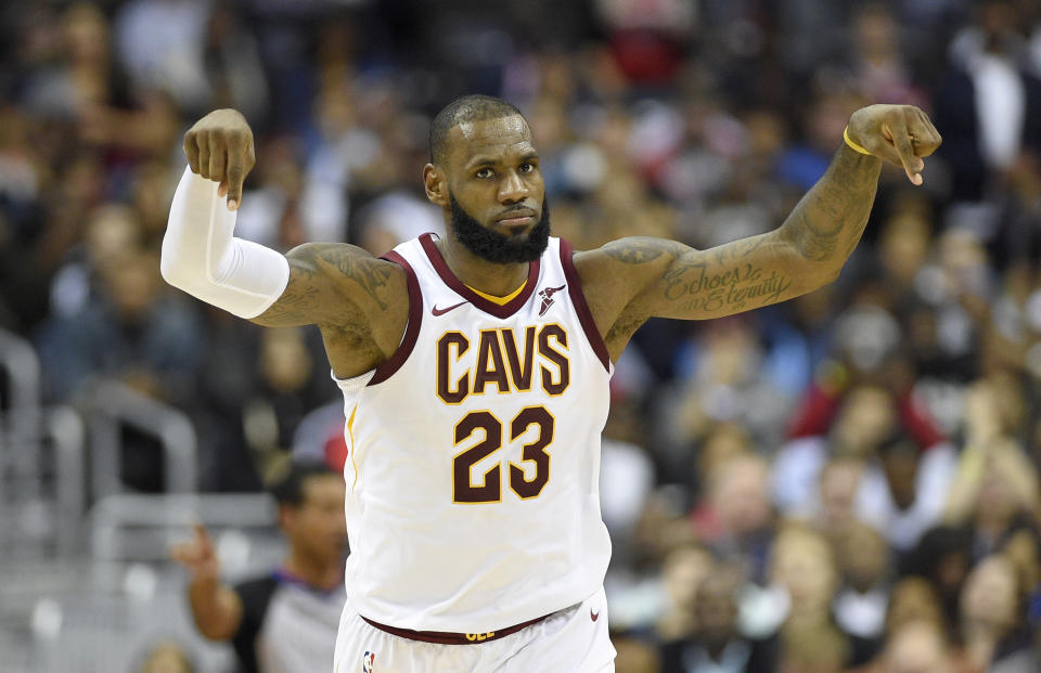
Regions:
<instances>
[{"instance_id":1,"label":"blurred crowd of spectators in the stands behind the player","mask_svg":"<svg viewBox=\"0 0 1041 673\"><path fill-rule=\"evenodd\" d=\"M254 127L236 233L383 254L463 93L528 117L554 233L698 248L777 227L856 108L921 106L840 279L651 321L613 378L602 499L626 672L1037 672L1041 1L26 0L0 9L0 328L52 402L117 379L190 415L208 491L343 461L319 335L166 286L184 130ZM147 437L123 479L162 488Z\"/></svg>"}]
</instances>

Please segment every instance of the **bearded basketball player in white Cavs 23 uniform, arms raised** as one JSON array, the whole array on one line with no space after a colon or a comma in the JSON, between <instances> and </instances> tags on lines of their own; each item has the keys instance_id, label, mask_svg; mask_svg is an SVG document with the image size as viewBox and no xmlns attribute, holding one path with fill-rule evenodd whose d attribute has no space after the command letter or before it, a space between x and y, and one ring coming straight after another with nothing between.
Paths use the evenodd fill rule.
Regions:
<instances>
[{"instance_id":1,"label":"bearded basketball player in white Cavs 23 uniform, arms raised","mask_svg":"<svg viewBox=\"0 0 1041 673\"><path fill-rule=\"evenodd\" d=\"M575 251L550 236L524 116L465 96L435 118L423 169L448 235L376 259L234 238L249 126L221 109L189 130L164 276L261 325L317 324L344 393L351 555L334 671L614 669L597 494L613 363L648 318L718 318L833 281L882 160L921 184L940 143L897 105L858 111L846 138L775 231Z\"/></svg>"}]
</instances>

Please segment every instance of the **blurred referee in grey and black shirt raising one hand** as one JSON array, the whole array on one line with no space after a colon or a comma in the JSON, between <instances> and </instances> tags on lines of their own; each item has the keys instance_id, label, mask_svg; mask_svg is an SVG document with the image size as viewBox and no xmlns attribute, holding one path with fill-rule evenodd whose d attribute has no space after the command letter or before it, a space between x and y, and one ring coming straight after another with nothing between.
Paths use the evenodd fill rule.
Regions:
<instances>
[{"instance_id":1,"label":"blurred referee in grey and black shirt raising one hand","mask_svg":"<svg viewBox=\"0 0 1041 673\"><path fill-rule=\"evenodd\" d=\"M324 465L292 465L273 489L288 542L271 573L229 586L206 530L171 549L191 572L192 617L213 640L231 640L243 673L312 673L333 660L343 587L344 481Z\"/></svg>"}]
</instances>

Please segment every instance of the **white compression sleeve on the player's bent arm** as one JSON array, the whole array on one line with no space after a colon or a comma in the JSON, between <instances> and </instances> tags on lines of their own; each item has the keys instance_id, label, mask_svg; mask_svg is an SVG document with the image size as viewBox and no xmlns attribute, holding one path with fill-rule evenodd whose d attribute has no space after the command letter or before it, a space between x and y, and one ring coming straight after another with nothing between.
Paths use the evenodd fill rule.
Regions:
<instances>
[{"instance_id":1,"label":"white compression sleeve on the player's bent arm","mask_svg":"<svg viewBox=\"0 0 1041 673\"><path fill-rule=\"evenodd\" d=\"M166 282L240 318L256 318L290 282L290 262L271 248L232 237L236 213L218 184L184 170L170 204L159 269Z\"/></svg>"}]
</instances>

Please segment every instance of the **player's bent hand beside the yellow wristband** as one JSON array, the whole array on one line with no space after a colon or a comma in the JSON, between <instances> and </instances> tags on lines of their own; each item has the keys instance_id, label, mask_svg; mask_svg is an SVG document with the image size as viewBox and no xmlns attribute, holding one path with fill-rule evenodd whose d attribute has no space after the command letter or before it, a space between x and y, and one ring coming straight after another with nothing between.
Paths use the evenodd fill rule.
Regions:
<instances>
[{"instance_id":1,"label":"player's bent hand beside the yellow wristband","mask_svg":"<svg viewBox=\"0 0 1041 673\"><path fill-rule=\"evenodd\" d=\"M922 157L936 152L943 141L914 105L861 107L849 118L849 139L873 156L903 167L913 184L922 184Z\"/></svg>"}]
</instances>

